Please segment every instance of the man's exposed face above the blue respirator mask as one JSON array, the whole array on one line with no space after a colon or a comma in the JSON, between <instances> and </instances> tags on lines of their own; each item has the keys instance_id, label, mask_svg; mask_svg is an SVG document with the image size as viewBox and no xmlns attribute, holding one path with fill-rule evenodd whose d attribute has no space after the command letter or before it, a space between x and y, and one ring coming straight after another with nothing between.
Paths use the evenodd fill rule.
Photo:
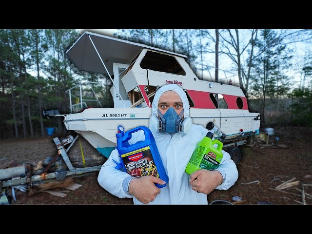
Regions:
<instances>
[{"instance_id":1,"label":"man's exposed face above the blue respirator mask","mask_svg":"<svg viewBox=\"0 0 312 234\"><path fill-rule=\"evenodd\" d=\"M164 92L158 100L158 110L162 115L164 115L170 107L173 107L178 115L180 115L183 110L183 102L180 96L172 90ZM183 117L184 115L182 118Z\"/></svg>"}]
</instances>

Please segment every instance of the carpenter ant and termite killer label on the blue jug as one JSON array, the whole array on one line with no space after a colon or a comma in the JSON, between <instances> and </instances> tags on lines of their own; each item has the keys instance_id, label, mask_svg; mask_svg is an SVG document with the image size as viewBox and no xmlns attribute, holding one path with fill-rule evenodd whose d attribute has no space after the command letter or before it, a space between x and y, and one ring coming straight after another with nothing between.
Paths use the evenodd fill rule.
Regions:
<instances>
[{"instance_id":1,"label":"carpenter ant and termite killer label on the blue jug","mask_svg":"<svg viewBox=\"0 0 312 234\"><path fill-rule=\"evenodd\" d=\"M121 155L130 176L156 176L158 171L149 146Z\"/></svg>"}]
</instances>

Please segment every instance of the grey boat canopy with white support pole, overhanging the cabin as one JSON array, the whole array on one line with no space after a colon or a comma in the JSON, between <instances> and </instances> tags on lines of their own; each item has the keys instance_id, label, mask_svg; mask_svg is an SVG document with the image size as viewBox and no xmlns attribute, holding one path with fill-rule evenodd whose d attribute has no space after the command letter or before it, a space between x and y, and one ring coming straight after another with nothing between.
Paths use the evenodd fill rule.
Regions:
<instances>
[{"instance_id":1,"label":"grey boat canopy with white support pole, overhanging the cabin","mask_svg":"<svg viewBox=\"0 0 312 234\"><path fill-rule=\"evenodd\" d=\"M106 67L109 74L113 74L114 62L130 64L144 48L187 58L185 55L88 31L66 51L66 55L80 71L106 73Z\"/></svg>"}]
</instances>

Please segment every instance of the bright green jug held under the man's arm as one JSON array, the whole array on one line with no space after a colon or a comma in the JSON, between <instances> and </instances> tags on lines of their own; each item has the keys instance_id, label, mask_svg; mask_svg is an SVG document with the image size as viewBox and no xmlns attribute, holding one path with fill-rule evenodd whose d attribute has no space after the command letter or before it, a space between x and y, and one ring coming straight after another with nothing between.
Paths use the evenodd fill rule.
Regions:
<instances>
[{"instance_id":1,"label":"bright green jug held under the man's arm","mask_svg":"<svg viewBox=\"0 0 312 234\"><path fill-rule=\"evenodd\" d=\"M193 152L193 155L186 166L185 172L189 175L199 169L215 170L223 157L223 143L217 139L213 140L214 134L209 132L206 137L199 141ZM214 144L218 147L215 148Z\"/></svg>"}]
</instances>

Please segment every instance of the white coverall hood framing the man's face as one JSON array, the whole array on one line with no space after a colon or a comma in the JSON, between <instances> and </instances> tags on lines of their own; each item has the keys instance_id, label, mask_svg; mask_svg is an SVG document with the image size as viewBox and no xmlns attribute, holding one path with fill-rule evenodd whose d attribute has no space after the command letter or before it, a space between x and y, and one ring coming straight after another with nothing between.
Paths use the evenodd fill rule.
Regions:
<instances>
[{"instance_id":1,"label":"white coverall hood framing the man's face","mask_svg":"<svg viewBox=\"0 0 312 234\"><path fill-rule=\"evenodd\" d=\"M162 87L160 87L154 96L154 100L152 103L152 116L150 117L149 121L149 128L153 132L158 132L159 131L159 123L158 123L158 101L160 96L167 92L167 91L174 91L177 93L177 95L181 98L182 103L183 103L183 111L184 111L184 119L181 120L181 124L183 125L183 133L189 133L192 129L193 125L193 120L190 116L190 104L189 100L187 99L187 96L182 88L180 88L177 84L166 84Z\"/></svg>"}]
</instances>

